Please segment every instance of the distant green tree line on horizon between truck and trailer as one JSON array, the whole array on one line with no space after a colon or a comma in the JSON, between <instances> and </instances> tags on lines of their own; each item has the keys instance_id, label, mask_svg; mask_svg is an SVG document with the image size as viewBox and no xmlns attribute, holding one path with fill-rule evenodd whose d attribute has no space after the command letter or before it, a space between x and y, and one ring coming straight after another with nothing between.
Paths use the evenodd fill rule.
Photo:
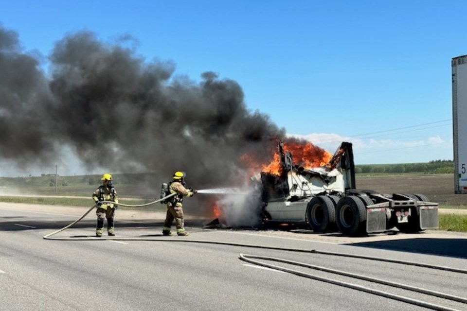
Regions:
<instances>
[{"instance_id":1,"label":"distant green tree line on horizon between truck and trailer","mask_svg":"<svg viewBox=\"0 0 467 311\"><path fill-rule=\"evenodd\" d=\"M428 163L362 164L355 166L355 173L450 174L454 173L454 162L452 160L433 160Z\"/></svg>"}]
</instances>

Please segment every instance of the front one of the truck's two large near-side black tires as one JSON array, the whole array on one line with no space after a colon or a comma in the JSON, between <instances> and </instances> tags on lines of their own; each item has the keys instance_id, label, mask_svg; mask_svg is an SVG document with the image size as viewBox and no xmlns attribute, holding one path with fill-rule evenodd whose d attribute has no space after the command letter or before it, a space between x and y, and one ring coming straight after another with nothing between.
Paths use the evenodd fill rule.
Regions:
<instances>
[{"instance_id":1,"label":"front one of the truck's two large near-side black tires","mask_svg":"<svg viewBox=\"0 0 467 311\"><path fill-rule=\"evenodd\" d=\"M306 208L310 229L314 232L325 232L336 224L336 207L332 199L325 195L315 196Z\"/></svg>"}]
</instances>

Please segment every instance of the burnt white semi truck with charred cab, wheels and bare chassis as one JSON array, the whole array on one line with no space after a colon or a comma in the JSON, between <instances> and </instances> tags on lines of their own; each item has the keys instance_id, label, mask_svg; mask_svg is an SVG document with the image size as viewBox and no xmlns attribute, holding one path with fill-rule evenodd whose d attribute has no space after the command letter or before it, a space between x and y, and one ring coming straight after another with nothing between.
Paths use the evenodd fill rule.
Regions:
<instances>
[{"instance_id":1,"label":"burnt white semi truck with charred cab, wheels and bare chassis","mask_svg":"<svg viewBox=\"0 0 467 311\"><path fill-rule=\"evenodd\" d=\"M438 227L438 204L423 194L357 190L352 144L342 142L328 164L305 169L279 144L279 175L261 173L265 223L307 225L314 232L344 235L419 232Z\"/></svg>"}]
</instances>

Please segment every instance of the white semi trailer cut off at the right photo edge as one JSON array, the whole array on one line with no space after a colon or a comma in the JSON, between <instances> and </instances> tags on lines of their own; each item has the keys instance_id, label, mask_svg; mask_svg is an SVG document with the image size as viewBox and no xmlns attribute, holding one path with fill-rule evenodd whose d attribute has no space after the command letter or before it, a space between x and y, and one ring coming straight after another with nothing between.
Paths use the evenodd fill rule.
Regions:
<instances>
[{"instance_id":1,"label":"white semi trailer cut off at the right photo edge","mask_svg":"<svg viewBox=\"0 0 467 311\"><path fill-rule=\"evenodd\" d=\"M467 193L467 55L452 58L454 193Z\"/></svg>"}]
</instances>

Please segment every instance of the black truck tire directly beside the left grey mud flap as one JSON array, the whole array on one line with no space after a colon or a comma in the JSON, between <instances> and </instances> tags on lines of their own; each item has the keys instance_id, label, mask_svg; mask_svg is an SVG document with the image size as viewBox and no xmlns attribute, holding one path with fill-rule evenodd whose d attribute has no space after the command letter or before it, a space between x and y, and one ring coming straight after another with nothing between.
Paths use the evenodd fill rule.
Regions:
<instances>
[{"instance_id":1,"label":"black truck tire directly beside the left grey mud flap","mask_svg":"<svg viewBox=\"0 0 467 311\"><path fill-rule=\"evenodd\" d=\"M336 207L337 227L344 235L366 234L366 208L358 196L348 195Z\"/></svg>"}]
</instances>

